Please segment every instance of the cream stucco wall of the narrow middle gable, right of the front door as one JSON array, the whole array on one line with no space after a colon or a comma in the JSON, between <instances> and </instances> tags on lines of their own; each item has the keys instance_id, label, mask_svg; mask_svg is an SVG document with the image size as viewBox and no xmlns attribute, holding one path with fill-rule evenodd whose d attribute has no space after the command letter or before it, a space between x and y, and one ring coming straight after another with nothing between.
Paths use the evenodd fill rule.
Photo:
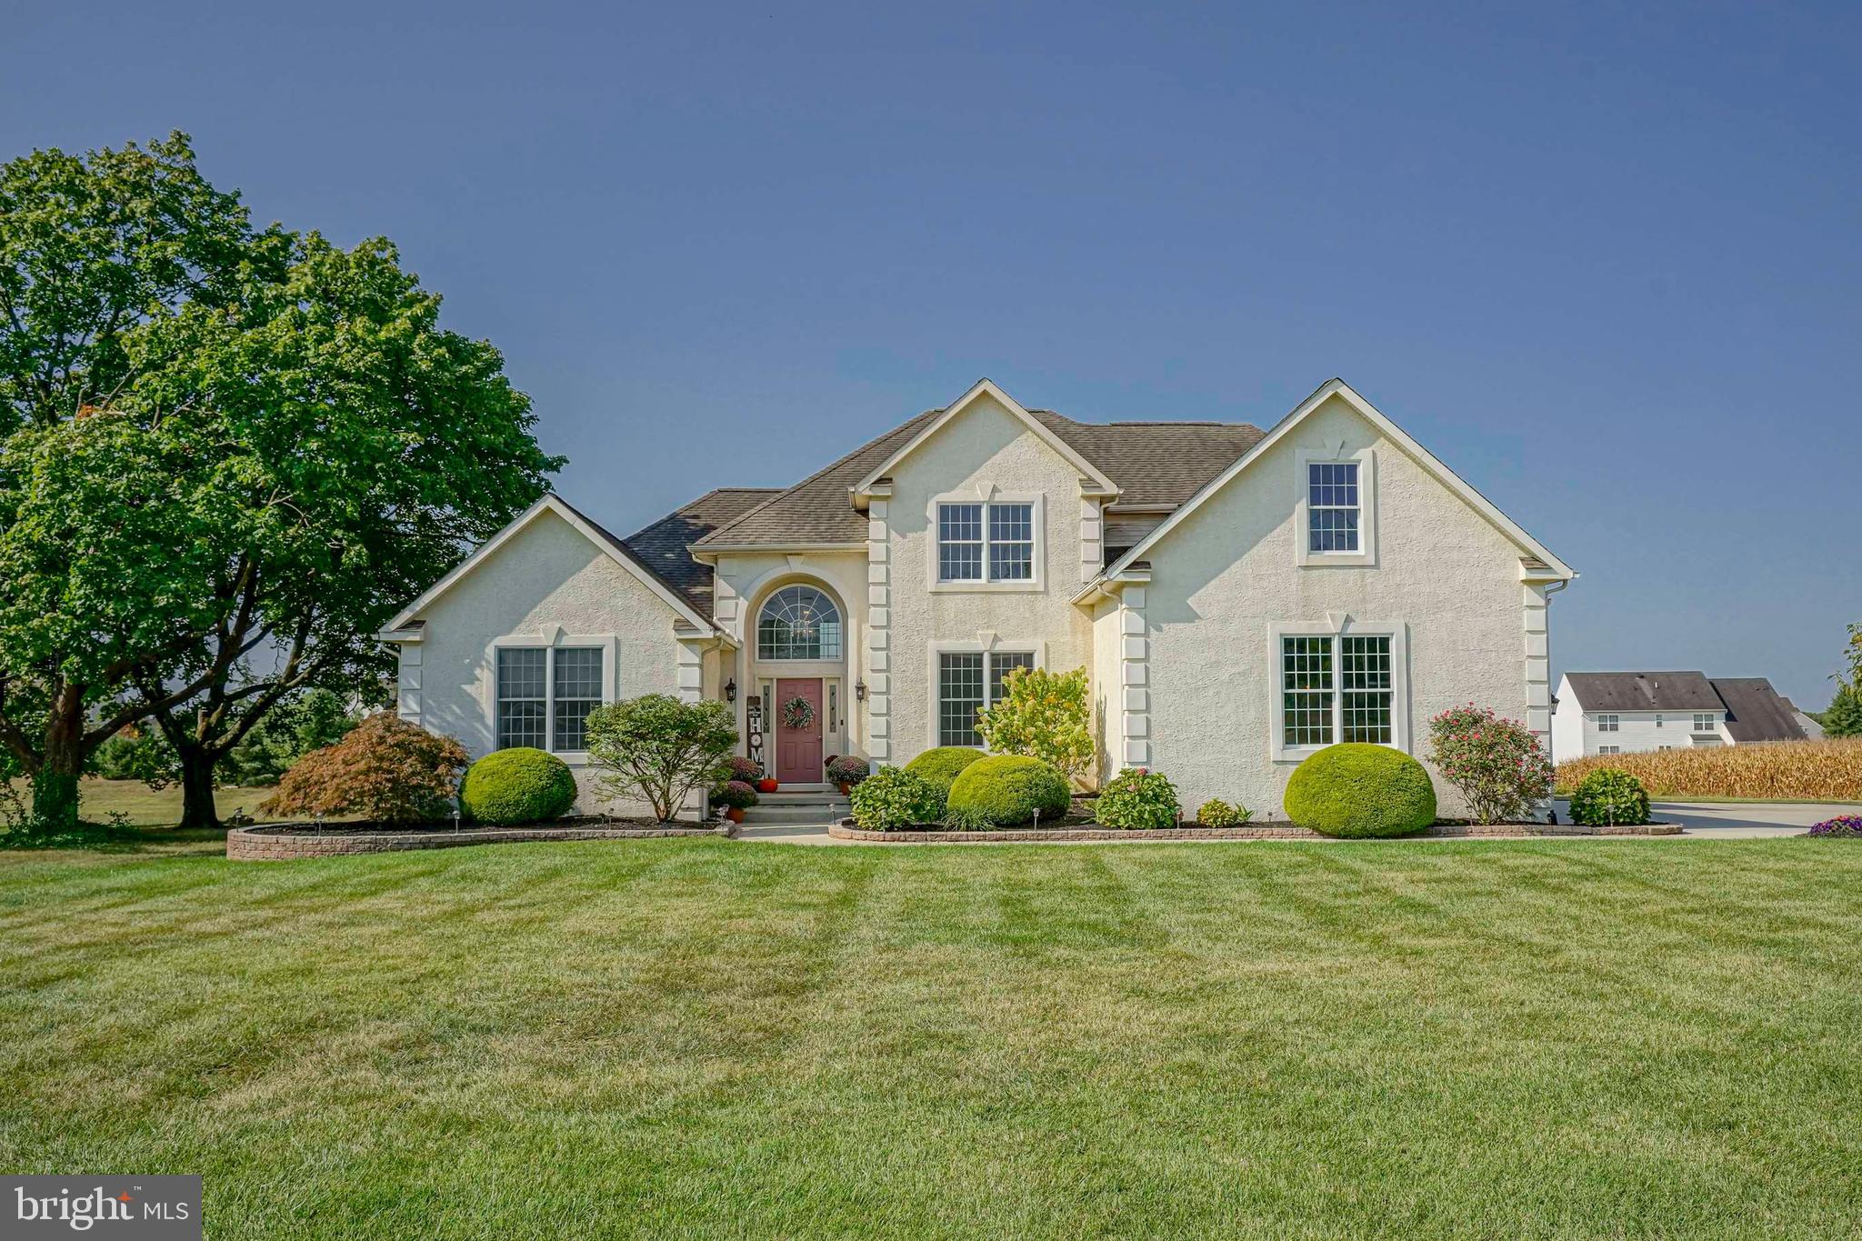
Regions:
<instances>
[{"instance_id":1,"label":"cream stucco wall of the narrow middle gable, right of the front door","mask_svg":"<svg viewBox=\"0 0 1862 1241\"><path fill-rule=\"evenodd\" d=\"M1041 580L1035 588L938 590L937 500L1039 497ZM875 504L875 510L879 506ZM883 510L886 592L888 763L903 765L937 744L935 653L940 642L994 642L1033 649L1056 672L1093 662L1091 618L1073 605L1082 584L1080 473L994 398L981 396L922 443L892 473ZM1097 510L1095 510L1097 514ZM1097 566L1095 566L1097 567ZM871 677L870 677L871 679Z\"/></svg>"}]
</instances>

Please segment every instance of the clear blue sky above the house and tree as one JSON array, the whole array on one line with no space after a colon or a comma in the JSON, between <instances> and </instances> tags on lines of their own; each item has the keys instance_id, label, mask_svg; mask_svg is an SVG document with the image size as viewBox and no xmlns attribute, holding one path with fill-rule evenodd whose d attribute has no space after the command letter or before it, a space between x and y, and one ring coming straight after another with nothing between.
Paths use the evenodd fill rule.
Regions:
<instances>
[{"instance_id":1,"label":"clear blue sky above the house and tree","mask_svg":"<svg viewBox=\"0 0 1862 1241\"><path fill-rule=\"evenodd\" d=\"M616 528L1337 374L1583 573L1557 670L1821 707L1862 620L1858 6L181 7L6 6L0 156L393 238Z\"/></svg>"}]
</instances>

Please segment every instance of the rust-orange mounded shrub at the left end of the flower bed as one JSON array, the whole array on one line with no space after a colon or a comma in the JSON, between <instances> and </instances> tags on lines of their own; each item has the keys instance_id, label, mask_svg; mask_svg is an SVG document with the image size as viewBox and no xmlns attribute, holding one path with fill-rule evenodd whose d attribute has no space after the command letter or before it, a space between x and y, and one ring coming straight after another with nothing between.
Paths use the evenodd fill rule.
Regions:
<instances>
[{"instance_id":1,"label":"rust-orange mounded shrub at the left end of the flower bed","mask_svg":"<svg viewBox=\"0 0 1862 1241\"><path fill-rule=\"evenodd\" d=\"M393 713L372 714L333 746L292 763L259 809L268 815L361 815L428 822L452 809L466 750Z\"/></svg>"}]
</instances>

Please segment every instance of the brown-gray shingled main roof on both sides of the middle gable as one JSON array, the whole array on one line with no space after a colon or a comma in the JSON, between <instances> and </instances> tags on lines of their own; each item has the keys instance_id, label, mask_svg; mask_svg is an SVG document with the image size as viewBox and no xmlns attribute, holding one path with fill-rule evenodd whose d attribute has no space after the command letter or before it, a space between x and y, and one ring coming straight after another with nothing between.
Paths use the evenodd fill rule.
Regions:
<instances>
[{"instance_id":1,"label":"brown-gray shingled main roof on both sides of the middle gable","mask_svg":"<svg viewBox=\"0 0 1862 1241\"><path fill-rule=\"evenodd\" d=\"M942 409L871 439L793 487L771 495L735 521L713 530L708 543L864 543L866 514L849 487L884 465ZM1127 508L1175 508L1261 441L1246 422L1074 422L1052 409L1030 409L1043 426L1119 486Z\"/></svg>"}]
</instances>

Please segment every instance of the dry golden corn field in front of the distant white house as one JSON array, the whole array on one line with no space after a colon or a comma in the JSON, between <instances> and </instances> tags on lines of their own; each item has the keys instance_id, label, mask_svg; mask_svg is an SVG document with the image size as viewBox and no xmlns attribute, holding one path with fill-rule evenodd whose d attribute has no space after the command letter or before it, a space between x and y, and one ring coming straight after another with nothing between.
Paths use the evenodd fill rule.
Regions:
<instances>
[{"instance_id":1,"label":"dry golden corn field in front of the distant white house","mask_svg":"<svg viewBox=\"0 0 1862 1241\"><path fill-rule=\"evenodd\" d=\"M1650 754L1598 754L1558 763L1558 793L1599 767L1648 785L1650 796L1754 796L1862 802L1862 737L1780 741Z\"/></svg>"}]
</instances>

